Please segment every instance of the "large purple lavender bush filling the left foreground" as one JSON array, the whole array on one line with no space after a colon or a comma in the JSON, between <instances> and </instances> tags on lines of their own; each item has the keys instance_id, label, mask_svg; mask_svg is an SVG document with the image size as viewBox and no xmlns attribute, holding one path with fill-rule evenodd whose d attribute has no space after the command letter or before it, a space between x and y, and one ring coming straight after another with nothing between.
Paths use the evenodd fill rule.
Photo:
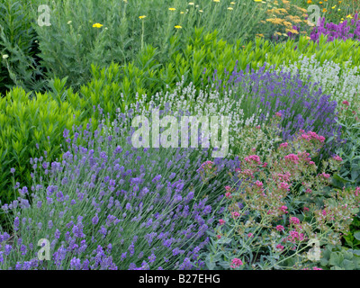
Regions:
<instances>
[{"instance_id":1,"label":"large purple lavender bush filling the left foreground","mask_svg":"<svg viewBox=\"0 0 360 288\"><path fill-rule=\"evenodd\" d=\"M0 228L1 269L203 266L197 259L213 220L206 194L222 193L221 171L236 161L215 159L216 175L202 190L196 170L206 150L133 148L130 119L131 111L112 126L103 120L94 135L91 124L84 132L74 127L73 139L65 130L61 162L31 159L32 193L23 187L17 200L2 206L14 225L13 233ZM49 261L37 257L43 238Z\"/></svg>"}]
</instances>

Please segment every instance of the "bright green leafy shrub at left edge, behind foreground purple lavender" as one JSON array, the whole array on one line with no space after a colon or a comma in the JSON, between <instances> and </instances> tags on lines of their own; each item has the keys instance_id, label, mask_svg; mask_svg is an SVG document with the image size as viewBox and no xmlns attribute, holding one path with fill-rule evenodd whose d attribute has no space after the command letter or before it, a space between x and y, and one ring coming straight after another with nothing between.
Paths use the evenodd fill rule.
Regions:
<instances>
[{"instance_id":1,"label":"bright green leafy shrub at left edge, behind foreground purple lavender","mask_svg":"<svg viewBox=\"0 0 360 288\"><path fill-rule=\"evenodd\" d=\"M36 149L47 151L44 158L55 160L60 154L61 137L65 128L71 129L81 120L67 102L53 100L49 94L30 93L15 87L0 98L0 200L8 202L16 196L10 186L10 169L15 168L15 179L20 184L31 183L29 159L38 155ZM76 116L76 120L74 118ZM86 125L86 120L82 122ZM48 139L49 137L49 139Z\"/></svg>"}]
</instances>

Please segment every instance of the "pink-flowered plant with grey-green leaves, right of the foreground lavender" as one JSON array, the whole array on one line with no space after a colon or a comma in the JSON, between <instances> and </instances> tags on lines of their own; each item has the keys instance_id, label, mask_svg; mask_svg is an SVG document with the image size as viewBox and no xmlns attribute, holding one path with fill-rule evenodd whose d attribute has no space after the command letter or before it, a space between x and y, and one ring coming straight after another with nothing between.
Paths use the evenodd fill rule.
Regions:
<instances>
[{"instance_id":1,"label":"pink-flowered plant with grey-green leaves, right of the foreground lavender","mask_svg":"<svg viewBox=\"0 0 360 288\"><path fill-rule=\"evenodd\" d=\"M323 247L341 245L360 193L329 187L329 170L338 169L339 157L323 160L321 173L311 161L324 137L304 130L295 136L271 153L243 157L232 175L235 191L222 199L225 210L206 255L208 268L316 269Z\"/></svg>"}]
</instances>

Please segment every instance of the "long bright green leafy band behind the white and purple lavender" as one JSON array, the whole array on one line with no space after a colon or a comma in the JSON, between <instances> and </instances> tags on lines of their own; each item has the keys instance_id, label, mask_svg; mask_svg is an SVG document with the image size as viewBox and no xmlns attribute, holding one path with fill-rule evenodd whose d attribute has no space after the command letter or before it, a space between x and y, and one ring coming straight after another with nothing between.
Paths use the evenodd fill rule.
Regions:
<instances>
[{"instance_id":1,"label":"long bright green leafy band behind the white and purple lavender","mask_svg":"<svg viewBox=\"0 0 360 288\"><path fill-rule=\"evenodd\" d=\"M124 107L136 101L136 94L156 94L166 89L166 86L174 89L175 83L180 82L182 76L184 76L184 85L193 82L197 88L210 84L209 79L211 80L215 70L218 78L226 81L229 78L229 71L233 70L237 61L238 70L245 70L247 66L257 70L265 62L275 67L297 62L300 68L301 59L311 58L312 55L320 65L324 64L326 59L332 59L340 68L345 67L344 63L349 59L351 59L350 67L360 65L360 54L353 48L353 46L358 47L359 43L353 40L326 43L325 39L321 39L320 44L316 44L301 37L299 42L289 40L276 45L260 39L249 41L247 46L242 45L243 40L231 45L225 40L219 40L218 31L205 33L203 28L194 29L193 34L186 40L185 49L178 47L179 40L178 36L171 38L169 48L171 53L166 62L159 61L157 58L159 50L148 44L139 52L135 60L124 66L112 62L107 67L92 67L91 80L80 87L80 97L89 97L90 92L86 87L92 87L93 92L95 86L96 91L101 91L105 86L108 88L112 86L112 90L118 90L114 88L115 84L118 84L121 89L112 91L113 101L119 102L122 93L121 105ZM98 97L94 96L91 104L97 105L98 100ZM74 99L73 102L75 103L76 100ZM105 109L104 106L102 108Z\"/></svg>"}]
</instances>

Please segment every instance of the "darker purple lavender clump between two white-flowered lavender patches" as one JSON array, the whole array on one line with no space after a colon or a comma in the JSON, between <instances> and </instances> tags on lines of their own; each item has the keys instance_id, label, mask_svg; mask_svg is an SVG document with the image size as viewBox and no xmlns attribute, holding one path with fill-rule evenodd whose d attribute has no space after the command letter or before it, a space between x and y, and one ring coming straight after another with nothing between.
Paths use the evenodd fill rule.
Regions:
<instances>
[{"instance_id":1,"label":"darker purple lavender clump between two white-flowered lavender patches","mask_svg":"<svg viewBox=\"0 0 360 288\"><path fill-rule=\"evenodd\" d=\"M235 101L241 103L245 118L254 117L259 123L268 123L269 117L281 115L281 137L293 139L297 130L312 130L324 135L330 149L341 143L341 126L337 120L337 102L331 101L330 94L324 94L320 85L305 82L302 77L285 72L266 69L266 64L258 71L244 72L234 68L227 82L216 79L217 89L231 91ZM320 158L326 154L321 153Z\"/></svg>"}]
</instances>

